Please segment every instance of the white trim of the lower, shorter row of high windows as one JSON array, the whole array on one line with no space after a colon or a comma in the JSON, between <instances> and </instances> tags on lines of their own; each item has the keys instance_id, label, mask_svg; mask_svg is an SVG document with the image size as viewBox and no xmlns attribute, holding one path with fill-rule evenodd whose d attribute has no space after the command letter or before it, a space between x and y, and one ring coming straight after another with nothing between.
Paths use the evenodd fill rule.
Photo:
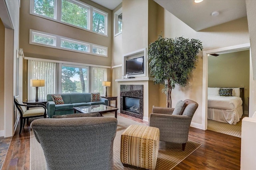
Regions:
<instances>
[{"instance_id":1,"label":"white trim of the lower, shorter row of high windows","mask_svg":"<svg viewBox=\"0 0 256 170\"><path fill-rule=\"evenodd\" d=\"M34 40L33 40L33 38L34 38L33 35L34 34L43 35L43 36L46 36L46 37L56 37L55 46L34 42ZM82 45L88 45L89 46L88 52L74 50L74 49L63 48L63 47L60 46L61 45L61 39L66 40L66 41L70 41L70 42L74 42L74 43L79 43L79 44L82 44ZM37 30L34 30L34 29L30 29L29 30L29 43L33 44L33 45L40 45L40 46L51 47L51 48L55 48L55 49L74 51L74 52L77 52L77 53L86 53L86 54L90 54L90 55L97 55L97 56L101 56L101 57L108 57L108 47L105 47L105 46L102 46L102 45L93 44L93 43L88 43L88 42L85 42L85 41L80 41L80 40L77 40L77 39L71 39L71 38L68 38L68 37L62 37L60 35L55 35L55 34L51 34L51 33L37 31ZM106 50L106 55L92 53L92 47L97 47L97 48L100 48L100 49L105 49Z\"/></svg>"}]
</instances>

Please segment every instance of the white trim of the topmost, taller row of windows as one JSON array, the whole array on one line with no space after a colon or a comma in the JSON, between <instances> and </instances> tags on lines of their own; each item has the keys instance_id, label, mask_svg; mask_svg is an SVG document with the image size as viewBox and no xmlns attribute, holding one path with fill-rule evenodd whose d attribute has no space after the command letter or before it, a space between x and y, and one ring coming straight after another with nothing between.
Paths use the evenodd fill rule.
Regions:
<instances>
[{"instance_id":1,"label":"white trim of the topmost, taller row of windows","mask_svg":"<svg viewBox=\"0 0 256 170\"><path fill-rule=\"evenodd\" d=\"M88 29L86 28L82 28L82 27L78 27L76 25L72 25L70 23L66 23L66 22L63 22L61 21L61 0L54 0L54 5L56 6L56 8L54 8L54 18L48 18L46 16L41 16L39 14L36 14L34 13L34 0L30 0L30 14L34 15L34 16L38 16L40 18L44 18L44 19L47 19L47 20L51 20L51 21L55 21L55 22L58 22L58 23L62 23L62 24L65 24L65 25L69 25L71 27L75 27L75 28L79 28L79 29L82 29L82 30L85 30L85 31L89 31L89 32L92 32L92 33L96 33L98 35L103 35L105 37L108 37L108 13L107 12L104 12L102 10L99 10L97 8L94 8L93 6L90 6L84 2L81 2L79 0L68 0L70 2L73 2L77 5L80 5L80 6L83 6L84 8L88 8ZM99 12L100 14L106 16L105 17L105 34L102 34L102 33L97 33L95 31L92 31L92 12L93 11L96 11L96 12Z\"/></svg>"}]
</instances>

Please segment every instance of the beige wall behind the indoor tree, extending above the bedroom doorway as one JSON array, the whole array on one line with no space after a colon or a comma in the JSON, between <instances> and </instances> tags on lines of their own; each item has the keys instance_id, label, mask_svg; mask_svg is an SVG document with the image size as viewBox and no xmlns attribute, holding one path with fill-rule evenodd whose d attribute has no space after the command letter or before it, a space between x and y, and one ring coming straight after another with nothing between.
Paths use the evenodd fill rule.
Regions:
<instances>
[{"instance_id":1,"label":"beige wall behind the indoor tree, extending above the bedroom doorway","mask_svg":"<svg viewBox=\"0 0 256 170\"><path fill-rule=\"evenodd\" d=\"M175 38L180 36L190 39L199 39L202 41L203 50L249 43L247 18L230 21L196 32L165 10L164 37ZM198 54L196 70L192 72L187 86L176 86L176 88L172 90L172 107L175 107L178 100L185 99L194 100L199 104L192 122L198 125L202 124L202 52ZM162 104L162 106L165 106L165 103Z\"/></svg>"}]
</instances>

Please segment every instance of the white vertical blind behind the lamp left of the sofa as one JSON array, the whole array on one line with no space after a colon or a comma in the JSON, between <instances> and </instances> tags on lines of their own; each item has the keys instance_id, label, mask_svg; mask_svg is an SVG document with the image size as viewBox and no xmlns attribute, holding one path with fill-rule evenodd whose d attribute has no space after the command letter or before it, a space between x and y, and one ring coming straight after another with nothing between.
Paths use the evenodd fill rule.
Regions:
<instances>
[{"instance_id":1,"label":"white vertical blind behind the lamp left of the sofa","mask_svg":"<svg viewBox=\"0 0 256 170\"><path fill-rule=\"evenodd\" d=\"M38 99L46 99L47 94L56 92L56 63L28 60L28 100L36 97L36 88L30 87L30 79L44 79L45 86L38 87Z\"/></svg>"}]
</instances>

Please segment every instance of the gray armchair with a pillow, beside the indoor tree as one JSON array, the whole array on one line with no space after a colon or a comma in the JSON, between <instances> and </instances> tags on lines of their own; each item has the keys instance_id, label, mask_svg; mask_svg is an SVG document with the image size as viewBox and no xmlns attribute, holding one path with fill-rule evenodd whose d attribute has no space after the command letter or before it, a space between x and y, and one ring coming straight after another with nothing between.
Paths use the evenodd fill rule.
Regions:
<instances>
[{"instance_id":1,"label":"gray armchair with a pillow, beside the indoor tree","mask_svg":"<svg viewBox=\"0 0 256 170\"><path fill-rule=\"evenodd\" d=\"M180 100L176 108L153 107L149 125L160 129L160 141L182 143L184 151L190 123L197 107L196 102L188 99L184 102Z\"/></svg>"}]
</instances>

